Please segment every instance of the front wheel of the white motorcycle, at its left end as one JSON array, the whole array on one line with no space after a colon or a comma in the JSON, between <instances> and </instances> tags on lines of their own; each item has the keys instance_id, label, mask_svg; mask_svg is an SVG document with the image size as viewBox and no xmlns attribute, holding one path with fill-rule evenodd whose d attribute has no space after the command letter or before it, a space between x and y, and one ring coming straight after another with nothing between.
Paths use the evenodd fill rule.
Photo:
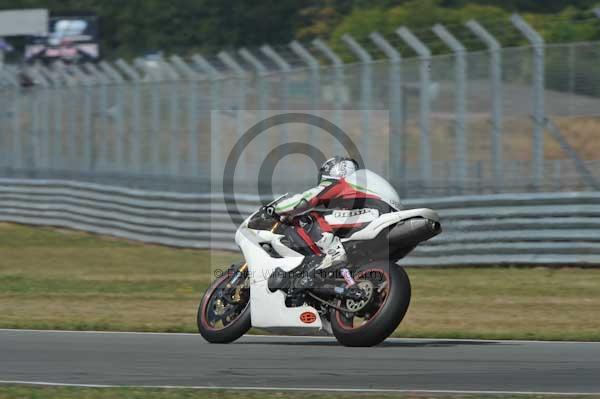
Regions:
<instances>
[{"instance_id":1,"label":"front wheel of the white motorcycle, at its left end","mask_svg":"<svg viewBox=\"0 0 600 399\"><path fill-rule=\"evenodd\" d=\"M197 322L204 339L215 344L235 341L248 332L250 281L246 271L239 271L239 265L208 287L198 307Z\"/></svg>"}]
</instances>

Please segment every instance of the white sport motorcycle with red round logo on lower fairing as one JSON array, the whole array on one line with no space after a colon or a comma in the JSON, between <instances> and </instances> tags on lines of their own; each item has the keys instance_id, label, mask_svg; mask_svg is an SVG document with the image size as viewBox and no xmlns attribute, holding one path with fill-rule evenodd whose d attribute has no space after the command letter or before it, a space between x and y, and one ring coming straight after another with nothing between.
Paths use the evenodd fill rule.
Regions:
<instances>
[{"instance_id":1,"label":"white sport motorcycle with red round logo on lower fairing","mask_svg":"<svg viewBox=\"0 0 600 399\"><path fill-rule=\"evenodd\" d=\"M244 261L215 279L201 299L197 324L207 341L229 343L258 327L324 331L346 346L373 346L398 327L411 285L397 262L441 233L440 218L431 209L403 210L395 189L374 172L355 174L392 212L316 208L282 223L272 212L282 196L250 215L235 236ZM322 254L310 237L319 215L342 226L336 235L348 261L333 270L318 268Z\"/></svg>"}]
</instances>

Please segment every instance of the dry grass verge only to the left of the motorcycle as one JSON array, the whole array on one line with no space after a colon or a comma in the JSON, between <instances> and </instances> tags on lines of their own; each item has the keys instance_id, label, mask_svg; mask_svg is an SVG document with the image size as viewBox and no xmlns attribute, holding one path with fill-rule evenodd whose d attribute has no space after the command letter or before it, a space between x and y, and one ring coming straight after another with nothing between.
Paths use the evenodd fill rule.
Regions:
<instances>
[{"instance_id":1,"label":"dry grass verge only to the left of the motorcycle","mask_svg":"<svg viewBox=\"0 0 600 399\"><path fill-rule=\"evenodd\" d=\"M0 327L193 331L212 262L237 258L0 224Z\"/></svg>"}]
</instances>

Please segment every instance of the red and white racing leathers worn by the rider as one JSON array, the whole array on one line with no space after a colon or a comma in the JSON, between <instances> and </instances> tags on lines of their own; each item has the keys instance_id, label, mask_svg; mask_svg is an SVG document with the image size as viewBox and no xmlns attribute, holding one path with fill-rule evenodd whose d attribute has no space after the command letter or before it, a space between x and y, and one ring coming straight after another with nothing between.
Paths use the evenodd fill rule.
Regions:
<instances>
[{"instance_id":1,"label":"red and white racing leathers worn by the rider","mask_svg":"<svg viewBox=\"0 0 600 399\"><path fill-rule=\"evenodd\" d=\"M311 213L321 232L321 237L314 241L301 228L297 229L313 249L313 253L325 254L319 269L346 261L346 251L336 233L359 229L381 213L393 210L381 197L359 184L362 183L361 179L357 179L358 176L355 175L361 175L361 172L362 170L341 178L328 176L318 186L285 198L275 205L275 212L286 218L307 213L317 207L332 210L326 216L318 212Z\"/></svg>"}]
</instances>

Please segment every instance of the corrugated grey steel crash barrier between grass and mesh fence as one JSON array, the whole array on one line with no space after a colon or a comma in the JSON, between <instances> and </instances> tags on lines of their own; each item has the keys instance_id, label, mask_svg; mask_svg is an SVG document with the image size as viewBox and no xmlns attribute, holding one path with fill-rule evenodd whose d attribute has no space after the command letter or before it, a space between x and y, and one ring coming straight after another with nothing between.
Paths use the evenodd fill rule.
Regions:
<instances>
[{"instance_id":1,"label":"corrugated grey steel crash barrier between grass and mesh fence","mask_svg":"<svg viewBox=\"0 0 600 399\"><path fill-rule=\"evenodd\" d=\"M255 196L236 196L243 213ZM497 194L404 201L442 217L443 234L402 264L600 266L600 192ZM0 220L187 248L232 249L223 196L61 180L0 179Z\"/></svg>"}]
</instances>

